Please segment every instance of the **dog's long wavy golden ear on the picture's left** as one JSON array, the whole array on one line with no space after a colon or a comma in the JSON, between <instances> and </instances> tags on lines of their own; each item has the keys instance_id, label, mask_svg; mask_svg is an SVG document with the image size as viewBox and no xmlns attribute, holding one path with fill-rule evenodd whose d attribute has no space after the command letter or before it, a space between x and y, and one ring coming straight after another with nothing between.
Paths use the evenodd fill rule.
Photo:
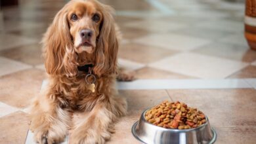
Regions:
<instances>
[{"instance_id":1,"label":"dog's long wavy golden ear on the picture's left","mask_svg":"<svg viewBox=\"0 0 256 144\"><path fill-rule=\"evenodd\" d=\"M75 52L68 26L67 7L64 6L54 17L43 37L43 58L49 75L76 74Z\"/></svg>"}]
</instances>

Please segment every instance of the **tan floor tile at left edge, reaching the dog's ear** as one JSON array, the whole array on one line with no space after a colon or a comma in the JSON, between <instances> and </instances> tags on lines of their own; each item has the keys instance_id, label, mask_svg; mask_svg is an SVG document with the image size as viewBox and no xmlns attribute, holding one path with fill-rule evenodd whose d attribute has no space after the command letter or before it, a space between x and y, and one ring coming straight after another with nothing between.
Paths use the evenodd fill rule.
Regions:
<instances>
[{"instance_id":1,"label":"tan floor tile at left edge, reaching the dog's ear","mask_svg":"<svg viewBox=\"0 0 256 144\"><path fill-rule=\"evenodd\" d=\"M11 49L0 51L0 56L10 58L12 60L37 65L43 63L41 58L41 46L39 44L23 45Z\"/></svg>"}]
</instances>

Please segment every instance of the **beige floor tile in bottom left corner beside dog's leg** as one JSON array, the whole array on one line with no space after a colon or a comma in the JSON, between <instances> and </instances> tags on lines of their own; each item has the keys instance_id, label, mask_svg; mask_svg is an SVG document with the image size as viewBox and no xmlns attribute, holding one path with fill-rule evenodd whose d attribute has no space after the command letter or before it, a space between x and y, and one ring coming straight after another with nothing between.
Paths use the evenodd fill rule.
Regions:
<instances>
[{"instance_id":1,"label":"beige floor tile in bottom left corner beside dog's leg","mask_svg":"<svg viewBox=\"0 0 256 144\"><path fill-rule=\"evenodd\" d=\"M28 115L21 111L0 118L0 143L25 143L28 132Z\"/></svg>"}]
</instances>

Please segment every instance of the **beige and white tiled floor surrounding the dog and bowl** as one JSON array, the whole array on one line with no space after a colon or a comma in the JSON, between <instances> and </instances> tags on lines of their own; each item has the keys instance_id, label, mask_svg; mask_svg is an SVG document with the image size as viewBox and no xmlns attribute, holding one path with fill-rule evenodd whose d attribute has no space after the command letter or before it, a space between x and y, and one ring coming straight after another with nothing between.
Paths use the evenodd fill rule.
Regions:
<instances>
[{"instance_id":1,"label":"beige and white tiled floor surrounding the dog and bowl","mask_svg":"<svg viewBox=\"0 0 256 144\"><path fill-rule=\"evenodd\" d=\"M163 99L201 109L217 130L216 143L255 143L256 51L244 39L244 3L101 1L116 9L123 33L119 65L139 80L119 83L129 111L108 143L139 143L132 124ZM0 11L0 143L26 139L27 108L46 78L39 42L65 3L20 0Z\"/></svg>"}]
</instances>

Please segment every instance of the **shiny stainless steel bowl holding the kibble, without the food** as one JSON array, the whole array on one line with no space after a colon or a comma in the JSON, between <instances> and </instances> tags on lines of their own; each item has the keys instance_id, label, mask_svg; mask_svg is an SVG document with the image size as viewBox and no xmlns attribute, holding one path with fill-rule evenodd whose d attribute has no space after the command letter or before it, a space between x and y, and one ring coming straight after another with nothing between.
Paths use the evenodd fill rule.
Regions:
<instances>
[{"instance_id":1,"label":"shiny stainless steel bowl holding the kibble, without the food","mask_svg":"<svg viewBox=\"0 0 256 144\"><path fill-rule=\"evenodd\" d=\"M146 109L140 116L139 122L135 122L131 128L131 132L136 139L142 143L148 144L208 144L216 141L216 132L211 128L209 120L198 128L187 130L174 130L161 128L146 121L144 115L148 111Z\"/></svg>"}]
</instances>

